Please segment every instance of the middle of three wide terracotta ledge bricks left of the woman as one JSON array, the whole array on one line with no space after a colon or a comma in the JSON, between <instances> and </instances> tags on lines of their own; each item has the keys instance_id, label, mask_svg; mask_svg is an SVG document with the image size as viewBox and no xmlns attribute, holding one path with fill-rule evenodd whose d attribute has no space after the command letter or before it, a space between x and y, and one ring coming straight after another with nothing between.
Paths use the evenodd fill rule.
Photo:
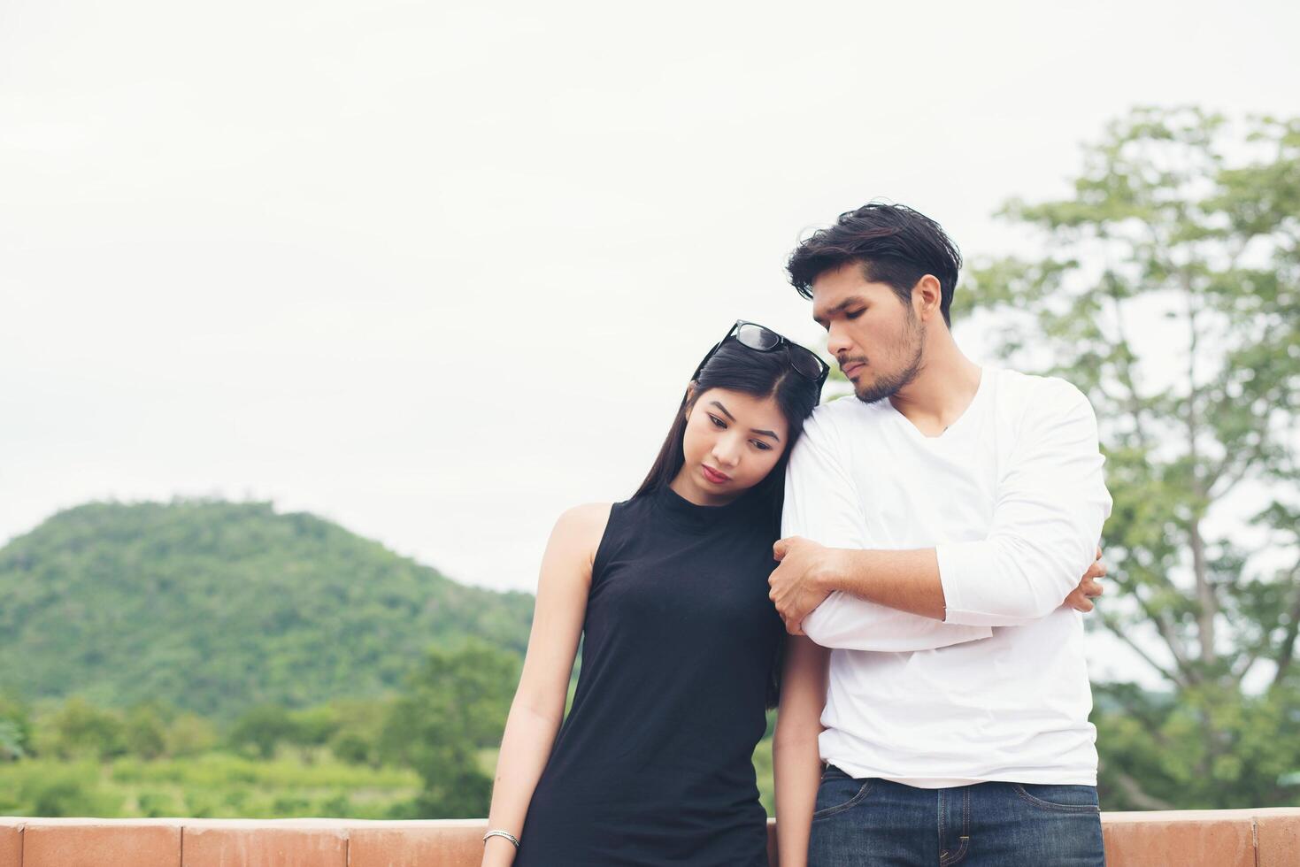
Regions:
<instances>
[{"instance_id":1,"label":"middle of three wide terracotta ledge bricks left of the woman","mask_svg":"<svg viewBox=\"0 0 1300 867\"><path fill-rule=\"evenodd\" d=\"M347 831L335 819L191 820L185 867L347 867Z\"/></svg>"}]
</instances>

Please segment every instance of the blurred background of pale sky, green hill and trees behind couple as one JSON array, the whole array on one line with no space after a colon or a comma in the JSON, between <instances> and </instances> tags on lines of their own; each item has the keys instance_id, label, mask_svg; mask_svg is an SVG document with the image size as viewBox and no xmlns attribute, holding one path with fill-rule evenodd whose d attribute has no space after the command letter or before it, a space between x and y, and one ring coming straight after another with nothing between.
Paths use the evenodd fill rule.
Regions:
<instances>
[{"instance_id":1,"label":"blurred background of pale sky, green hill and trees behind couple","mask_svg":"<svg viewBox=\"0 0 1300 867\"><path fill-rule=\"evenodd\" d=\"M0 0L0 814L485 815L555 516L871 199L1097 409L1104 807L1300 805L1296 32Z\"/></svg>"}]
</instances>

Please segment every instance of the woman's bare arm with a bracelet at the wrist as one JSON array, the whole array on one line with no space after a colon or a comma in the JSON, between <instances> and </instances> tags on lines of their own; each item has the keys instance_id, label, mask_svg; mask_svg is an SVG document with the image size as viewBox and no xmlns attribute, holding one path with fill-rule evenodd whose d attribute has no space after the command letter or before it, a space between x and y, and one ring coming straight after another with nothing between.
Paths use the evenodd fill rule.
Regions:
<instances>
[{"instance_id":1,"label":"woman's bare arm with a bracelet at the wrist","mask_svg":"<svg viewBox=\"0 0 1300 867\"><path fill-rule=\"evenodd\" d=\"M564 512L551 530L537 582L524 672L497 758L489 828L516 837L523 833L528 803L564 719L564 699L592 586L592 562L608 520L610 504L592 503ZM514 861L514 844L504 837L488 838L484 867L506 867Z\"/></svg>"}]
</instances>

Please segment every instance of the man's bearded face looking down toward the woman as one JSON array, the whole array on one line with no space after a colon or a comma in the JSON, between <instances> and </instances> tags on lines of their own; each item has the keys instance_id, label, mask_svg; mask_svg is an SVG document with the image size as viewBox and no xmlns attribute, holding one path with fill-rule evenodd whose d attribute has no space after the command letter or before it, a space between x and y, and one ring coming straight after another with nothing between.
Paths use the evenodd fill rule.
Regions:
<instances>
[{"instance_id":1,"label":"man's bearded face looking down toward the woman","mask_svg":"<svg viewBox=\"0 0 1300 867\"><path fill-rule=\"evenodd\" d=\"M924 324L892 286L868 282L859 263L812 281L812 318L863 403L892 396L922 368Z\"/></svg>"}]
</instances>

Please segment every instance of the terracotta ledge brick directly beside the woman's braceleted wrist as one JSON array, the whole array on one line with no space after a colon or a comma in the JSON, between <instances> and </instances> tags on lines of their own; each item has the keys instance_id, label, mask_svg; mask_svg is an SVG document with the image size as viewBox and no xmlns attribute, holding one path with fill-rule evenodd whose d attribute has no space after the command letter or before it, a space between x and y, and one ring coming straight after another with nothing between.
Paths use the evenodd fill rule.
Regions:
<instances>
[{"instance_id":1,"label":"terracotta ledge brick directly beside the woman's braceleted wrist","mask_svg":"<svg viewBox=\"0 0 1300 867\"><path fill-rule=\"evenodd\" d=\"M482 819L348 824L350 867L478 867Z\"/></svg>"}]
</instances>

